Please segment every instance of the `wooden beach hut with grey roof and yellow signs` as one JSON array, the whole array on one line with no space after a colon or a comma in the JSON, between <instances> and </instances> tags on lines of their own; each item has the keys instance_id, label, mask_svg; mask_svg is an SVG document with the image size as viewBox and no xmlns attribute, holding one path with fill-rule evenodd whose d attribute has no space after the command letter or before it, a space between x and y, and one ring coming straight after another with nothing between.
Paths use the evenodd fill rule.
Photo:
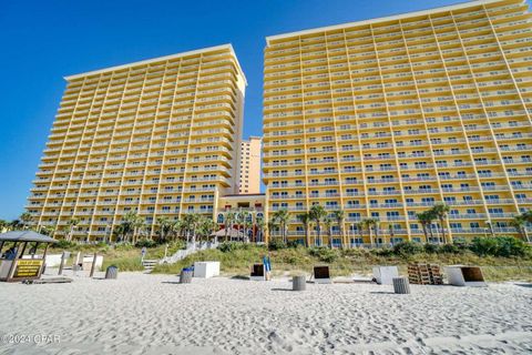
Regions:
<instances>
[{"instance_id":1,"label":"wooden beach hut with grey roof and yellow signs","mask_svg":"<svg viewBox=\"0 0 532 355\"><path fill-rule=\"evenodd\" d=\"M54 239L33 231L12 231L0 234L0 281L37 280L44 268L48 246ZM42 255L37 254L45 244Z\"/></svg>"}]
</instances>

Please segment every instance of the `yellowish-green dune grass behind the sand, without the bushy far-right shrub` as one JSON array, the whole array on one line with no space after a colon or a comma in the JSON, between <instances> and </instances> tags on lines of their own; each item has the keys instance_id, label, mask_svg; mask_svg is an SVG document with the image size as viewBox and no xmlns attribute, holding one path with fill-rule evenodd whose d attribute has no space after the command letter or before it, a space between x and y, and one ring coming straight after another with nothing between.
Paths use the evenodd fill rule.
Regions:
<instances>
[{"instance_id":1,"label":"yellowish-green dune grass behind the sand, without the bushy far-right shrub","mask_svg":"<svg viewBox=\"0 0 532 355\"><path fill-rule=\"evenodd\" d=\"M182 248L182 243L168 245L168 255ZM141 265L141 247L133 245L116 245L114 247L99 245L69 245L65 248L51 248L49 253L59 254L63 250L71 252L68 265L72 263L78 251L82 255L92 255L96 252L103 255L103 270L116 265L120 271L143 271ZM164 256L165 245L149 247L145 258L161 258ZM268 251L266 246L253 244L235 244L229 248L206 250L192 254L172 265L156 265L153 273L178 274L185 266L196 261L219 261L224 275L248 275L254 263L260 263L263 256L268 255L273 264L274 275L293 275L301 272L310 274L314 265L329 265L332 276L348 276L352 274L370 275L375 265L397 265L401 274L407 274L407 265L411 262L428 262L444 265L466 264L482 266L488 281L528 281L532 282L532 258L530 257L494 257L478 256L471 252L463 253L417 253L413 255L391 255L378 251L361 248L327 250L288 247Z\"/></svg>"}]
</instances>

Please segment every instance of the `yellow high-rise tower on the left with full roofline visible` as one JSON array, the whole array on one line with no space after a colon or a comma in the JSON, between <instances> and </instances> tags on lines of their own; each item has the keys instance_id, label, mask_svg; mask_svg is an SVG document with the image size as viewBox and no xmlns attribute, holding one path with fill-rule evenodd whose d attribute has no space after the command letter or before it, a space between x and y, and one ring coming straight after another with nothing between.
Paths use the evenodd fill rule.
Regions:
<instances>
[{"instance_id":1,"label":"yellow high-rise tower on the left with full roofline visible","mask_svg":"<svg viewBox=\"0 0 532 355\"><path fill-rule=\"evenodd\" d=\"M246 80L231 44L65 78L29 211L110 235L129 211L212 215L237 189ZM153 234L153 227L149 231Z\"/></svg>"}]
</instances>

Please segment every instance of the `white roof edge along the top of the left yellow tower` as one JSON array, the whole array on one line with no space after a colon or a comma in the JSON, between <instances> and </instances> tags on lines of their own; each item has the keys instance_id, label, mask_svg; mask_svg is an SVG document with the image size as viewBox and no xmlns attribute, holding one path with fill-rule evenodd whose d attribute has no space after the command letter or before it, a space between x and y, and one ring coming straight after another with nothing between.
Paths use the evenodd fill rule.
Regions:
<instances>
[{"instance_id":1,"label":"white roof edge along the top of the left yellow tower","mask_svg":"<svg viewBox=\"0 0 532 355\"><path fill-rule=\"evenodd\" d=\"M200 53L204 53L204 52L214 52L214 51L219 51L219 50L229 50L229 52L235 58L235 62L236 62L236 67L238 69L238 72L241 73L242 78L244 79L244 82L247 85L246 75L244 75L244 71L242 70L241 63L238 62L238 58L236 57L235 50L233 49L233 45L231 43L215 45L215 47L206 47L206 48L202 48L202 49L197 49L197 50L193 50L193 51L186 51L186 52L181 52L181 53L175 53L175 54L170 54L170 55L164 55L164 57L145 59L145 60L141 60L141 61L136 61L136 62L132 62L132 63L126 63L126 64L121 64L121 65L114 65L114 67L92 70L92 71L79 73L79 74L64 77L64 80L71 81L71 80L80 79L80 78L83 78L83 77L100 74L100 73L104 73L104 72L120 70L120 69L145 65L145 64L156 63L156 62L161 62L161 61L165 61L165 60L172 60L172 59L176 59L176 58L181 58L181 57L195 55L195 54L200 54Z\"/></svg>"}]
</instances>

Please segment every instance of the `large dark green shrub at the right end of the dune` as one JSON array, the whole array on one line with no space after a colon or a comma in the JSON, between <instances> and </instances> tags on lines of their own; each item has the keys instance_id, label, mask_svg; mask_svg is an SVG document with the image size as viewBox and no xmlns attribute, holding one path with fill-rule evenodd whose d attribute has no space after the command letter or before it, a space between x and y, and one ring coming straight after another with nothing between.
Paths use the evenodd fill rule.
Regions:
<instances>
[{"instance_id":1,"label":"large dark green shrub at the right end of the dune","mask_svg":"<svg viewBox=\"0 0 532 355\"><path fill-rule=\"evenodd\" d=\"M474 237L470 250L479 256L526 256L531 247L513 236Z\"/></svg>"}]
</instances>

